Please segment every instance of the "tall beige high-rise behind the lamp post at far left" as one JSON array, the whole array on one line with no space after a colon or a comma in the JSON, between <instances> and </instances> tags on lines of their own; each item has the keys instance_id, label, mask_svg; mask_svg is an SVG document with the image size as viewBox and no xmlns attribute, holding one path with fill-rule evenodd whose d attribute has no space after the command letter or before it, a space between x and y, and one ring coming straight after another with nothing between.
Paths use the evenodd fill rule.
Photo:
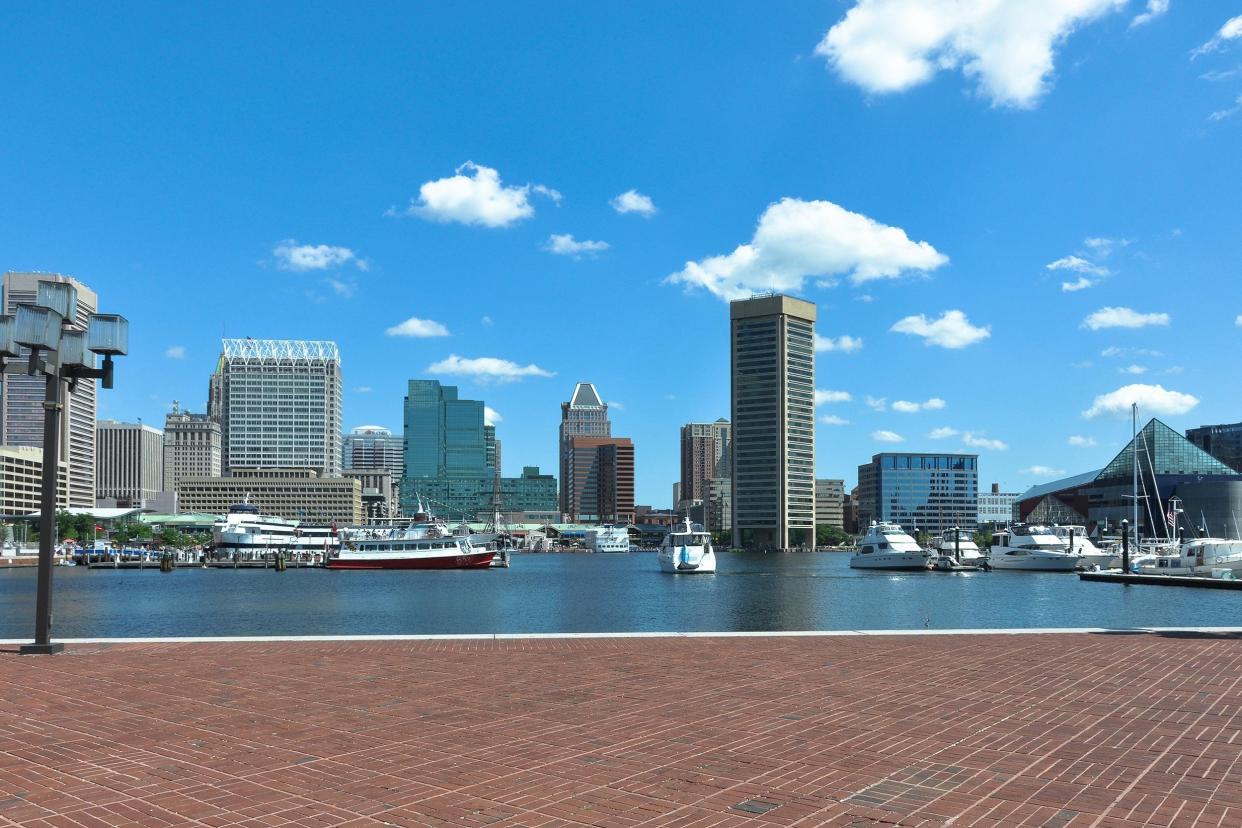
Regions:
<instances>
[{"instance_id":1,"label":"tall beige high-rise behind the lamp post at far left","mask_svg":"<svg viewBox=\"0 0 1242 828\"><path fill-rule=\"evenodd\" d=\"M58 273L5 273L4 312L15 313L19 304L32 304L39 298L40 282L68 282L77 289L77 315L66 322L79 330L87 318L98 310L94 290L77 279ZM22 349L25 353L25 349ZM41 376L10 374L4 377L0 396L0 443L5 446L43 447L43 394ZM61 413L60 456L68 473L68 498L61 505L73 509L94 508L94 416L96 381L78 380L73 391L65 391Z\"/></svg>"}]
</instances>

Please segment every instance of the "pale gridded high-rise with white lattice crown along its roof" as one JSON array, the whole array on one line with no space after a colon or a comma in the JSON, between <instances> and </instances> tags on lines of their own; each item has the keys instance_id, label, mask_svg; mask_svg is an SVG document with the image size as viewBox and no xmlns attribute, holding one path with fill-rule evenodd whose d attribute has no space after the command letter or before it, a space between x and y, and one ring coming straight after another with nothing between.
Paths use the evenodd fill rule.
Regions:
<instances>
[{"instance_id":1,"label":"pale gridded high-rise with white lattice crown along its roof","mask_svg":"<svg viewBox=\"0 0 1242 828\"><path fill-rule=\"evenodd\" d=\"M211 382L224 469L310 468L340 474L337 343L225 339Z\"/></svg>"}]
</instances>

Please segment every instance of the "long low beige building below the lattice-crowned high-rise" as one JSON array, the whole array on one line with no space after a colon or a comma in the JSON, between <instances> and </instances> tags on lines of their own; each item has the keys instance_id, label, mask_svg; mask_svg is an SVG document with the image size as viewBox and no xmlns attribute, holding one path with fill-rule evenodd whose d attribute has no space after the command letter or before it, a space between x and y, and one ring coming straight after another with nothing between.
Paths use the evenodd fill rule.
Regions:
<instances>
[{"instance_id":1,"label":"long low beige building below the lattice-crowned high-rise","mask_svg":"<svg viewBox=\"0 0 1242 828\"><path fill-rule=\"evenodd\" d=\"M310 524L363 521L358 478L320 477L309 468L233 468L229 477L189 477L176 488L181 511L225 514L246 499L263 514Z\"/></svg>"}]
</instances>

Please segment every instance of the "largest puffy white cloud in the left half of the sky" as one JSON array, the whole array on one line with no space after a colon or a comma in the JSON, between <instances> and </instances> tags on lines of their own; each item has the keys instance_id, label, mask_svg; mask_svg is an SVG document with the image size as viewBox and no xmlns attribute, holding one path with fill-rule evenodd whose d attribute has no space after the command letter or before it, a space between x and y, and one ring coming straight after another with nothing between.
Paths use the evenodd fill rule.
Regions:
<instances>
[{"instance_id":1,"label":"largest puffy white cloud in the left half of the sky","mask_svg":"<svg viewBox=\"0 0 1242 828\"><path fill-rule=\"evenodd\" d=\"M560 201L560 194L542 184L505 185L491 166L466 161L446 179L427 181L419 187L419 199L400 215L419 216L428 221L483 227L508 227L535 215L530 194ZM397 215L395 209L389 215Z\"/></svg>"}]
</instances>

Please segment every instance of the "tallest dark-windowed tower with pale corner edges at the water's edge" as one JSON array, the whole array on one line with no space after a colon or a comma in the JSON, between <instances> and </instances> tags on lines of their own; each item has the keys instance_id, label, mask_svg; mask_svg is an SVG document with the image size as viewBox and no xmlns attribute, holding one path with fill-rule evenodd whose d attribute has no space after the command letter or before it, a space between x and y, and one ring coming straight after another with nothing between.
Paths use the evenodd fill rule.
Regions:
<instances>
[{"instance_id":1,"label":"tallest dark-windowed tower with pale corner edges at the water's edge","mask_svg":"<svg viewBox=\"0 0 1242 828\"><path fill-rule=\"evenodd\" d=\"M815 305L729 303L733 542L815 545Z\"/></svg>"}]
</instances>

